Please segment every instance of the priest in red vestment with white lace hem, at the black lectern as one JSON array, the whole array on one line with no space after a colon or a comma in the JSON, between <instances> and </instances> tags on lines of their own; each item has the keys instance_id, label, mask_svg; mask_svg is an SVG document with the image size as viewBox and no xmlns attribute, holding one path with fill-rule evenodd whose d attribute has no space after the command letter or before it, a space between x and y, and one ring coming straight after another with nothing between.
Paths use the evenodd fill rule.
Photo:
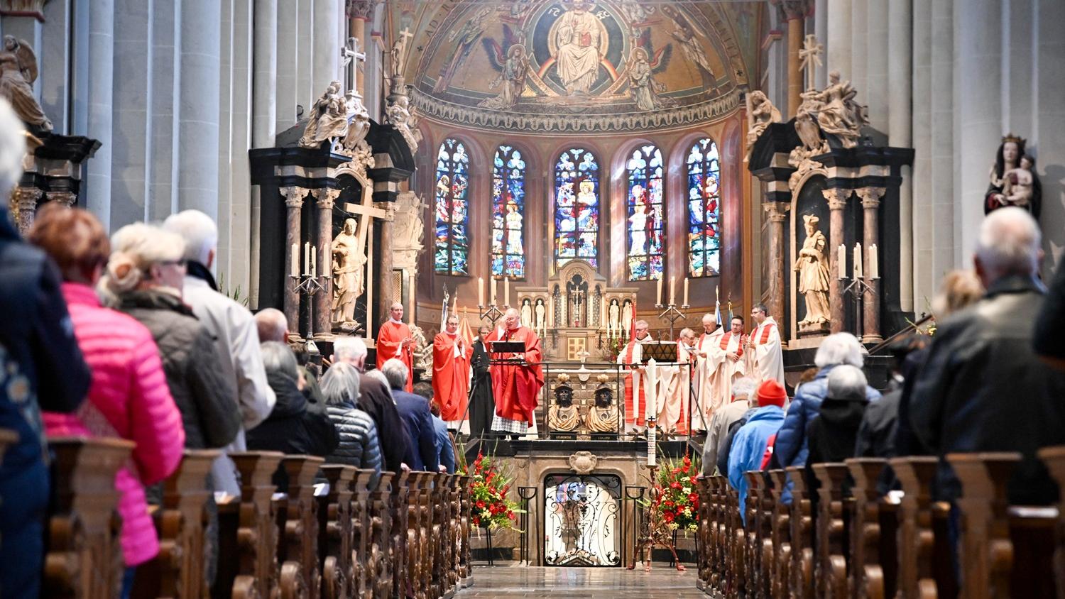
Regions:
<instances>
[{"instance_id":1,"label":"priest in red vestment with white lace hem, at the black lectern","mask_svg":"<svg viewBox=\"0 0 1065 599\"><path fill-rule=\"evenodd\" d=\"M524 342L525 351L492 353L493 360L522 360L524 363L495 364L491 367L492 393L495 395L495 417L492 430L510 435L524 435L536 421L534 411L540 402L543 387L543 351L540 337L528 327L522 327L518 310L507 310L503 317L505 331L495 342ZM498 331L492 333L498 336Z\"/></svg>"}]
</instances>

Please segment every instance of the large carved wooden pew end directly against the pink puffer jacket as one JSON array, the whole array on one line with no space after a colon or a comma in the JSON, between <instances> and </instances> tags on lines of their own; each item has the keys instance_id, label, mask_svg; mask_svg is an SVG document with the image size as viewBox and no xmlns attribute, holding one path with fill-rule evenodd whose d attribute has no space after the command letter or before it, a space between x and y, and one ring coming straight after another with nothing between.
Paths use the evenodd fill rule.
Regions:
<instances>
[{"instance_id":1,"label":"large carved wooden pew end directly against the pink puffer jacket","mask_svg":"<svg viewBox=\"0 0 1065 599\"><path fill-rule=\"evenodd\" d=\"M127 465L133 443L53 437L48 446L55 459L42 597L117 597L125 565L115 475Z\"/></svg>"}]
</instances>

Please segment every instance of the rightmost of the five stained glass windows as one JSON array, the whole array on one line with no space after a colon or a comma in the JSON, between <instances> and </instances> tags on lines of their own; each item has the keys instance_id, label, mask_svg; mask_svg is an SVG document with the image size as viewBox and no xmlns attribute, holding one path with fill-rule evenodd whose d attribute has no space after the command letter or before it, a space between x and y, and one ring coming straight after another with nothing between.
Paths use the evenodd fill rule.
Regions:
<instances>
[{"instance_id":1,"label":"rightmost of the five stained glass windows","mask_svg":"<svg viewBox=\"0 0 1065 599\"><path fill-rule=\"evenodd\" d=\"M718 145L704 137L688 151L688 273L721 271L721 161Z\"/></svg>"}]
</instances>

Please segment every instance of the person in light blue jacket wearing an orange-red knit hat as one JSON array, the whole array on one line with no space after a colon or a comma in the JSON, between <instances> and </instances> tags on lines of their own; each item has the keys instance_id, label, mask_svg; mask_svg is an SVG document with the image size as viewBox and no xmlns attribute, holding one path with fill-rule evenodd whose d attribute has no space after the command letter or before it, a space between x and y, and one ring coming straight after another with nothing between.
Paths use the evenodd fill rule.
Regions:
<instances>
[{"instance_id":1,"label":"person in light blue jacket wearing an orange-red knit hat","mask_svg":"<svg viewBox=\"0 0 1065 599\"><path fill-rule=\"evenodd\" d=\"M758 385L758 409L748 418L747 423L736 431L728 450L728 484L739 492L740 517L747 525L747 479L743 472L760 470L769 437L784 422L784 402L788 395L784 386L770 379Z\"/></svg>"}]
</instances>

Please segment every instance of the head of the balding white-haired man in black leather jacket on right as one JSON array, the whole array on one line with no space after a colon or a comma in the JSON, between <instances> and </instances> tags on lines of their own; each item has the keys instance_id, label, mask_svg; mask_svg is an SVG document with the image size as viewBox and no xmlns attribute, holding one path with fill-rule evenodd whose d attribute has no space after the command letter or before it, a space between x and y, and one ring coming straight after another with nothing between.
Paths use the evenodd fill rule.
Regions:
<instances>
[{"instance_id":1,"label":"head of the balding white-haired man in black leather jacket on right","mask_svg":"<svg viewBox=\"0 0 1065 599\"><path fill-rule=\"evenodd\" d=\"M1033 274L1039 263L1039 224L1017 206L999 209L984 218L977 240L977 260L992 280L1006 274Z\"/></svg>"}]
</instances>

